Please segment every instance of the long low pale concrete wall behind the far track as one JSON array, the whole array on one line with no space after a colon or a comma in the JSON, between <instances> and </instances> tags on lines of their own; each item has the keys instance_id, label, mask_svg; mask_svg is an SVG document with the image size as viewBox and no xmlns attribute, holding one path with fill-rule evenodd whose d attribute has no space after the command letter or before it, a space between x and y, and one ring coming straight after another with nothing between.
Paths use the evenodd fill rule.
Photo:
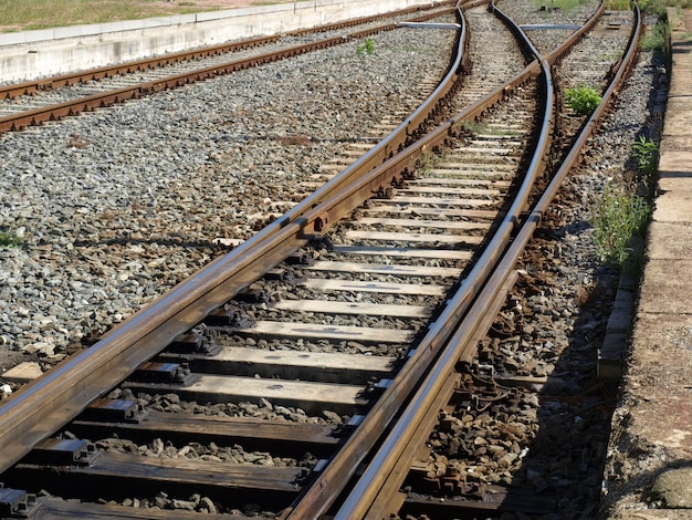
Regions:
<instances>
[{"instance_id":1,"label":"long low pale concrete wall behind the far track","mask_svg":"<svg viewBox=\"0 0 692 520\"><path fill-rule=\"evenodd\" d=\"M0 81L18 82L94 69L429 3L430 0L308 0L170 18L3 33L0 34Z\"/></svg>"}]
</instances>

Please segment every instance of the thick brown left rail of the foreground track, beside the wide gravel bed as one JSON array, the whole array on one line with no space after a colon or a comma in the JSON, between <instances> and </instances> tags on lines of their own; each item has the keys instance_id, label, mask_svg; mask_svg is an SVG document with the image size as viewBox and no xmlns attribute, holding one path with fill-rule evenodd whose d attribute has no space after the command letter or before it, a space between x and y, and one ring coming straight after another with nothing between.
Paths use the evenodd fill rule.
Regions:
<instances>
[{"instance_id":1,"label":"thick brown left rail of the foreground track, beside the wide gravel bed","mask_svg":"<svg viewBox=\"0 0 692 520\"><path fill-rule=\"evenodd\" d=\"M453 60L454 65L442 83L457 81L457 66L461 63L459 54L462 51L463 45L460 45ZM436 93L439 96L440 89ZM432 112L438 101L430 96L423 103L424 108L421 107L419 116ZM399 139L402 142L408 125L405 122L399 128L402 134ZM359 166L348 169L348 177L352 180L361 178L373 167L373 156L370 154L369 158L359 159ZM408 165L407 162L401 169ZM378 175L370 176L373 185L363 188L356 206L400 173L396 169L390 171L388 167L384 171L380 168ZM38 441L73 419L94 398L129 376L139 364L158 354L178 334L195 326L209 312L307 243L318 230L325 229L327 219L321 209L322 200L331 200L333 206L340 205L340 215L350 211L348 208L354 204L345 200L353 197L355 190L346 190L347 179L344 175L339 178L337 188L327 183L233 251L210 262L193 277L116 325L93 346L72 355L39 379L20 388L10 399L0 403L0 472L28 454ZM333 207L329 210L334 215Z\"/></svg>"}]
</instances>

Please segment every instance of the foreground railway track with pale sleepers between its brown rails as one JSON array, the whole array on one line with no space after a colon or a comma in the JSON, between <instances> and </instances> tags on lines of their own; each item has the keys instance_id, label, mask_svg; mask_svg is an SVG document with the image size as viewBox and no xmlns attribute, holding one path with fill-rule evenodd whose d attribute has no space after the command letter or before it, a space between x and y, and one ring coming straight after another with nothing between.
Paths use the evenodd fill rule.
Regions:
<instances>
[{"instance_id":1,"label":"foreground railway track with pale sleepers between its brown rails","mask_svg":"<svg viewBox=\"0 0 692 520\"><path fill-rule=\"evenodd\" d=\"M3 402L0 436L12 447L2 453L7 510L123 518L145 493L148 506L178 509L171 517L137 508L138 518L242 508L316 518L371 460L350 491L356 498L335 506L336 516L397 511L411 470L401 454L420 453L438 410L450 406L444 396L461 383L457 395L485 392L492 402L504 392L452 368L472 361L469 345L490 326L481 316L504 300L523 243L576 155L546 195L531 193L549 146L551 96L543 107L526 106L552 90L545 63L560 54L543 61L543 74L534 60L492 93L472 95L471 105L461 97L465 87L450 101L458 87L442 83L445 104L464 106L452 121L407 146L430 108L419 111L313 198ZM458 58L450 81L460 66ZM343 194L352 177L357 185ZM539 201L526 217L530 197ZM242 402L266 406L240 410ZM252 417L266 409L271 417ZM416 436L403 426L427 412L432 417ZM380 438L387 425L394 435ZM432 477L420 465L415 471L451 492L485 491L464 488L449 468ZM78 488L85 502L27 495L39 488L63 497ZM197 498L188 500L191 488Z\"/></svg>"}]
</instances>

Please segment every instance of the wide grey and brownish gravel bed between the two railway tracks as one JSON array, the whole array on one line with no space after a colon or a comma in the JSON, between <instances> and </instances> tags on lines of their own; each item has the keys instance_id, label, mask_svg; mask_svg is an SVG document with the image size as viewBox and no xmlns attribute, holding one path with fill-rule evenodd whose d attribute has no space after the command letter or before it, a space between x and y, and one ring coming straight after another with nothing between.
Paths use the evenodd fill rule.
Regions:
<instances>
[{"instance_id":1,"label":"wide grey and brownish gravel bed between the two railway tracks","mask_svg":"<svg viewBox=\"0 0 692 520\"><path fill-rule=\"evenodd\" d=\"M0 249L2 351L59 361L222 254L214 239L250 237L388 106L417 106L452 40L400 29L373 54L353 42L0 136L0 231L21 239Z\"/></svg>"}]
</instances>

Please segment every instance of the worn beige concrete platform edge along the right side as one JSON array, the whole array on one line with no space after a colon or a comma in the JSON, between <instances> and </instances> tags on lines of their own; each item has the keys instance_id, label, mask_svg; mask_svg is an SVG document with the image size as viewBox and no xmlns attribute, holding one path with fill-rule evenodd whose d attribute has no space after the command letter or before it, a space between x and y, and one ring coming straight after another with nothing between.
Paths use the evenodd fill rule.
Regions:
<instances>
[{"instance_id":1,"label":"worn beige concrete platform edge along the right side","mask_svg":"<svg viewBox=\"0 0 692 520\"><path fill-rule=\"evenodd\" d=\"M618 520L692 519L692 10L668 18L659 196L604 474L601 518Z\"/></svg>"}]
</instances>

